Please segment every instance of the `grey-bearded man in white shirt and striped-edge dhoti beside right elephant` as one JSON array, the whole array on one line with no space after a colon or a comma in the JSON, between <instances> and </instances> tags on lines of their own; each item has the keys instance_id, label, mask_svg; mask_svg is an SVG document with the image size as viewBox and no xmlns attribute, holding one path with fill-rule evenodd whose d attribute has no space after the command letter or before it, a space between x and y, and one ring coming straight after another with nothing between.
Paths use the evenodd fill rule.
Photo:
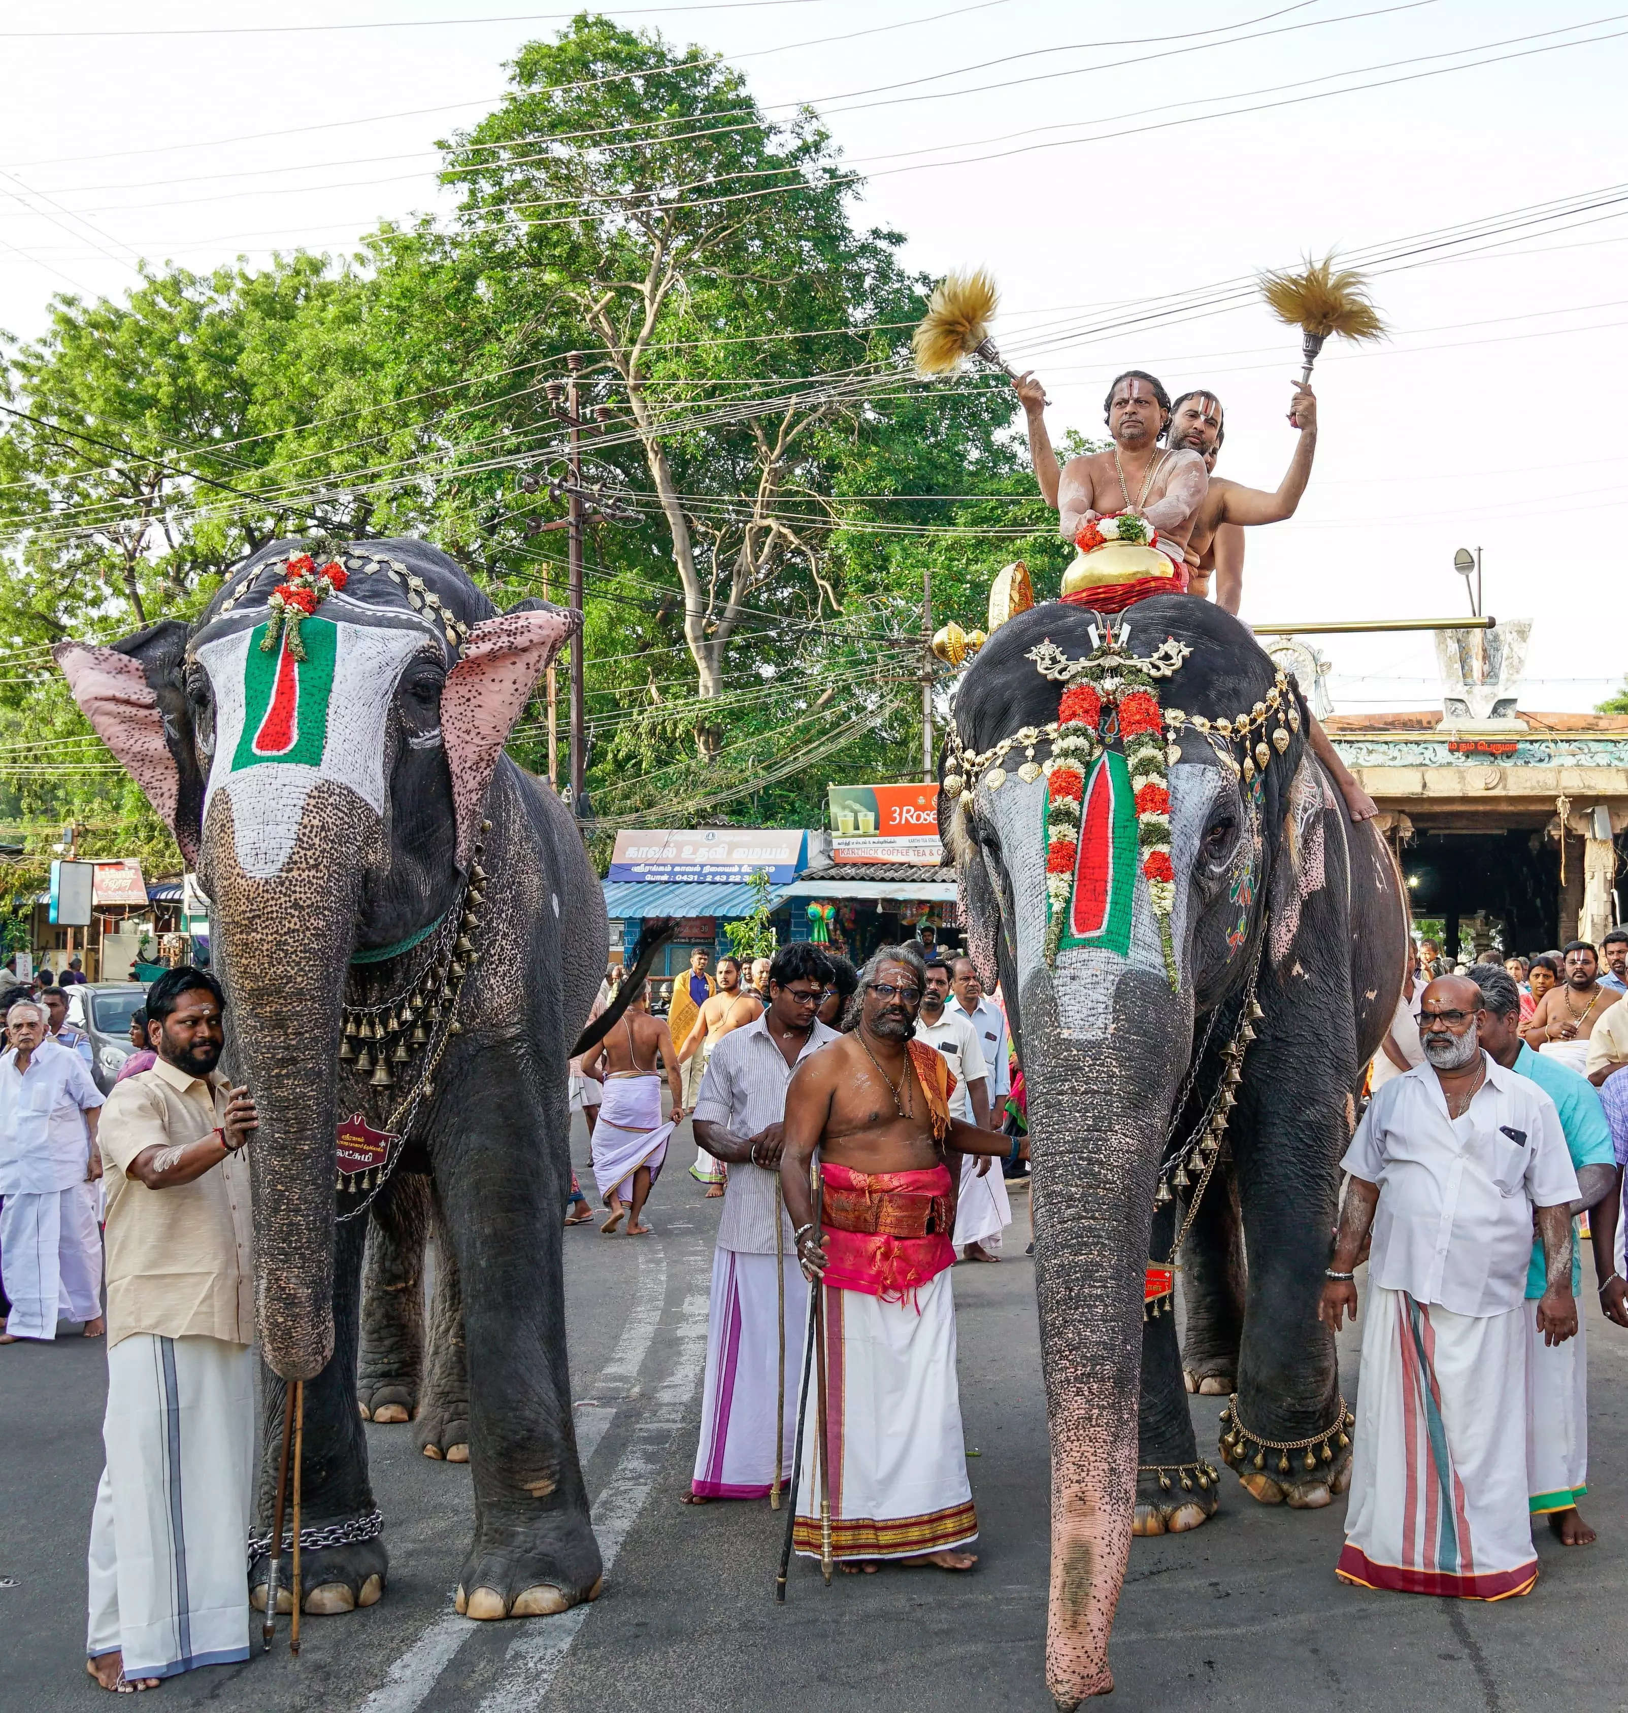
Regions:
<instances>
[{"instance_id":1,"label":"grey-bearded man in white shirt and striped-edge dhoti beside right elephant","mask_svg":"<svg viewBox=\"0 0 1628 1713\"><path fill-rule=\"evenodd\" d=\"M1577 1333L1577 1173L1554 1101L1481 1050L1481 990L1424 990L1426 1062L1386 1083L1350 1173L1321 1319L1356 1316L1373 1230L1342 1581L1503 1600L1537 1581L1527 1507L1527 1326ZM1525 1300L1532 1227L1547 1288Z\"/></svg>"}]
</instances>

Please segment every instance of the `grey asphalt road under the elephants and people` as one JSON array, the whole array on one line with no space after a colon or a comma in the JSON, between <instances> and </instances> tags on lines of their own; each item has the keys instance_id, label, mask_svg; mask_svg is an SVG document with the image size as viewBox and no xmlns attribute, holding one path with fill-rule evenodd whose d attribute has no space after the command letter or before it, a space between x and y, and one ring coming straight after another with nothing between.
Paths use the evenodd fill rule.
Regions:
<instances>
[{"instance_id":1,"label":"grey asphalt road under the elephants and people","mask_svg":"<svg viewBox=\"0 0 1628 1713\"><path fill-rule=\"evenodd\" d=\"M718 1215L682 1173L689 1158L685 1127L653 1197L653 1238L566 1233L571 1369L608 1564L603 1598L560 1619L458 1619L451 1595L468 1533L468 1468L418 1456L404 1429L370 1427L389 1519L387 1597L367 1612L308 1619L298 1662L284 1620L269 1656L175 1679L159 1691L165 1708L1047 1713L1045 1415L1023 1238L1008 1240L997 1268L956 1271L979 1569L838 1576L826 1590L804 1564L776 1610L780 1523L768 1504L679 1504L696 1446ZM1026 1208L1015 1203L1021 1228ZM1537 1590L1494 1607L1364 1593L1332 1574L1342 1504L1263 1509L1227 1475L1213 1523L1133 1547L1112 1706L1628 1713L1628 1634L1611 1615L1628 1571L1628 1334L1611 1336L1599 1317L1589 1331L1587 1513L1604 1530L1599 1547L1565 1552L1544 1533ZM101 1704L81 1675L81 1643L103 1365L101 1348L77 1340L0 1350L0 1578L15 1579L0 1588L3 1713ZM1194 1403L1201 1444L1215 1442L1218 1406Z\"/></svg>"}]
</instances>

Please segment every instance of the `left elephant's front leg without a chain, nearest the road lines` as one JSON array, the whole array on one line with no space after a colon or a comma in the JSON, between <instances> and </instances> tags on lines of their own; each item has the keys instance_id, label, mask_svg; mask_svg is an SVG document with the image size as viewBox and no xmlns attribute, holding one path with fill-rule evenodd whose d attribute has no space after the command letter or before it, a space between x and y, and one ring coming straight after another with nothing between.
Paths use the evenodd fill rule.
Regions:
<instances>
[{"instance_id":1,"label":"left elephant's front leg without a chain, nearest the road lines","mask_svg":"<svg viewBox=\"0 0 1628 1713\"><path fill-rule=\"evenodd\" d=\"M564 1064L552 1100L538 1079L535 1060L471 1059L434 1151L459 1276L480 1281L463 1300L475 1538L454 1602L478 1619L562 1612L602 1581L566 1367Z\"/></svg>"}]
</instances>

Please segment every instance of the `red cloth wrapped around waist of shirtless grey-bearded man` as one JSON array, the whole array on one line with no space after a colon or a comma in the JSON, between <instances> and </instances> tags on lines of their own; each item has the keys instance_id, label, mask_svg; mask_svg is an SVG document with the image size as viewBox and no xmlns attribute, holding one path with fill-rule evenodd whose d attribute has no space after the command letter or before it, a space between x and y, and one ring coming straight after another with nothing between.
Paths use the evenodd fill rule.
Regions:
<instances>
[{"instance_id":1,"label":"red cloth wrapped around waist of shirtless grey-bearded man","mask_svg":"<svg viewBox=\"0 0 1628 1713\"><path fill-rule=\"evenodd\" d=\"M828 1165L821 1167L821 1244L833 1290L913 1305L922 1285L955 1266L948 1167L865 1173ZM920 1235L895 1235L900 1232Z\"/></svg>"}]
</instances>

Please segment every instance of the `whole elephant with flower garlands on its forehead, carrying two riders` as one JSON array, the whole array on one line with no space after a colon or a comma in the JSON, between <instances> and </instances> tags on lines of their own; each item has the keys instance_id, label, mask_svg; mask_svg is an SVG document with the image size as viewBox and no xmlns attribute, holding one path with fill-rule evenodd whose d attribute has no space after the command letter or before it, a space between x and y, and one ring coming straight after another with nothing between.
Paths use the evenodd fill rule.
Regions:
<instances>
[{"instance_id":1,"label":"whole elephant with flower garlands on its forehead, carrying two riders","mask_svg":"<svg viewBox=\"0 0 1628 1713\"><path fill-rule=\"evenodd\" d=\"M1215 1509L1177 1252L1189 1376L1236 1386L1222 1451L1249 1490L1316 1506L1349 1482L1316 1304L1407 913L1383 838L1311 754L1294 682L1189 596L1003 624L956 694L939 815L1028 1088L1047 1680L1073 1706L1112 1689L1133 1531Z\"/></svg>"}]
</instances>

